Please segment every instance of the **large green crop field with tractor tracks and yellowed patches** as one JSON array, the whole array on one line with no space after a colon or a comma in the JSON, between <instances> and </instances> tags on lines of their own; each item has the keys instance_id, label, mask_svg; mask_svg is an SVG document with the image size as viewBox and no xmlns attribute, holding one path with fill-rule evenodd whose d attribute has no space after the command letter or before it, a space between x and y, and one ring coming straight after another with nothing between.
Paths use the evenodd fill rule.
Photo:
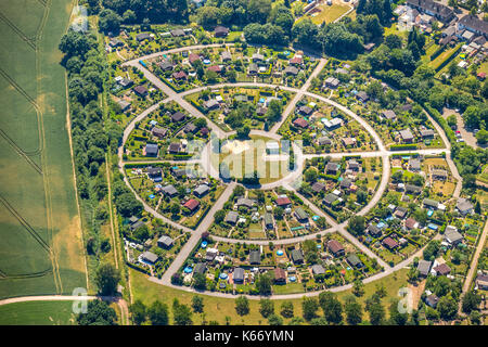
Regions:
<instances>
[{"instance_id":1,"label":"large green crop field with tractor tracks and yellowed patches","mask_svg":"<svg viewBox=\"0 0 488 347\"><path fill-rule=\"evenodd\" d=\"M57 50L72 4L0 3L0 298L87 287Z\"/></svg>"}]
</instances>

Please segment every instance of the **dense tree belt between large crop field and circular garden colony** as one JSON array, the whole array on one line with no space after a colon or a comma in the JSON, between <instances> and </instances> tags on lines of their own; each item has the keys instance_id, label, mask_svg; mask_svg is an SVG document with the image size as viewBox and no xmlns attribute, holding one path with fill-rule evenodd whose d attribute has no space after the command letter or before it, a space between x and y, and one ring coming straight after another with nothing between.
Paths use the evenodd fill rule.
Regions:
<instances>
[{"instance_id":1,"label":"dense tree belt between large crop field and circular garden colony","mask_svg":"<svg viewBox=\"0 0 488 347\"><path fill-rule=\"evenodd\" d=\"M88 235L87 252L95 257L111 248L110 240L99 234L110 216L105 153L116 152L123 131L115 123L104 119L100 105L108 67L98 47L94 36L72 29L59 47L68 74L76 183Z\"/></svg>"}]
</instances>

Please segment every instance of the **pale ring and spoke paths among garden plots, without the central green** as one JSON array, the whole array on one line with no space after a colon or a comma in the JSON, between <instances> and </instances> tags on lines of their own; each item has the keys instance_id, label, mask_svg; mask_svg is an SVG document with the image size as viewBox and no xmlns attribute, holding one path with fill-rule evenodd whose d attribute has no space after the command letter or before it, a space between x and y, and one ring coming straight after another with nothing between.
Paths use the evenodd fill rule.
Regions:
<instances>
[{"instance_id":1,"label":"pale ring and spoke paths among garden plots, without the central green","mask_svg":"<svg viewBox=\"0 0 488 347\"><path fill-rule=\"evenodd\" d=\"M292 88L292 87L287 87L287 86L275 86L275 85L270 85L270 83L236 82L236 83L220 83L220 85L214 85L214 86L197 87L197 88L194 88L192 90L187 90L187 91L183 91L183 92L180 92L180 93L175 92L167 85L165 85L163 81L160 81L156 76L154 76L150 70L147 70L146 68L144 68L143 66L141 66L139 64L140 60L146 60L146 59L151 59L151 57L156 57L156 56L159 56L159 55L165 54L165 53L176 53L176 52L181 52L181 51L202 49L202 48L205 48L205 47L221 47L221 46L222 44L185 47L185 48L180 48L180 49L176 49L176 50L170 50L170 51L165 51L165 52L158 52L158 53L150 54L150 55L143 56L141 59L128 61L128 62L124 63L123 65L136 66L137 68L142 70L144 76L150 81L152 81L157 88L159 88L162 91L164 91L168 95L168 98L163 100L162 102L166 103L166 102L169 102L169 101L175 101L175 102L179 103L187 112L191 113L193 116L195 116L195 117L203 117L203 118L207 119L207 123L209 124L209 127L211 128L211 130L215 131L215 133L218 136L219 139L224 139L224 138L229 137L230 134L232 134L234 131L226 132L222 129L220 129L216 124L210 121L207 117L205 117L205 115L203 115L194 106L189 104L183 99L185 95L198 92L198 91L201 91L203 89L207 89L207 88L220 89L220 88L223 88L223 87L248 87L248 86L267 87L267 88L279 87L280 89L294 92L295 95L292 99L292 101L288 103L288 105L286 106L285 111L283 112L282 119L280 119L280 121L277 123L271 128L271 130L269 132L261 131L261 130L253 130L252 131L252 134L262 134L262 136L266 136L266 137L270 137L270 138L277 139L277 140L281 138L279 134L277 134L278 129L286 120L287 116L293 112L296 103L303 97L311 97L311 98L318 99L318 100L320 100L322 102L325 102L325 103L328 103L330 105L333 105L333 106L337 107L338 110L341 110L342 112L344 112L345 114L347 114L348 116L350 116L351 118L357 120L373 137L374 142L378 146L378 151L373 151L373 152L351 152L351 153L306 154L306 155L301 156L300 167L303 167L303 160L305 160L306 158L314 157L314 156L343 157L345 155L360 155L360 156L363 156L363 157L373 157L373 156L381 157L382 162L383 162L382 180L381 180L380 185L378 185L375 194L373 195L372 200L368 203L367 206L364 206L358 213L358 215L361 215L361 216L367 215L380 202L380 200L381 200L381 197L382 197L382 195L383 195L383 193L386 190L387 184L388 184L388 179L389 179L389 174L390 174L389 156L393 155L393 154L421 153L421 154L424 154L424 155L428 155L428 154L433 154L434 155L434 154L447 153L447 160L448 160L449 167L450 167L451 171L453 172L454 178L458 179L458 183L457 183L457 188L455 188L455 194L457 195L454 195L454 196L455 197L459 196L459 193L460 193L461 187L462 187L461 185L461 180L460 180L461 177L459 176L459 172L458 172L458 170L455 168L455 165L453 164L452 159L450 158L450 143L449 143L446 134L444 133L444 130L441 129L441 127L436 121L434 121L434 119L432 119L432 117L428 114L427 114L427 117L429 118L429 120L432 121L434 127L436 128L437 132L440 134L440 137L441 137L442 141L445 142L447 149L391 152L391 151L387 151L386 150L386 147L384 146L380 136L376 133L376 131L373 129L373 127L368 121L365 121L363 118L361 118L360 116L358 116L357 114L351 112L349 108L343 106L342 104L336 103L335 101L333 101L333 100L331 100L329 98L325 98L325 97L322 97L322 95L318 95L318 94L314 94L312 92L307 91L309 86L310 86L311 80L320 73L320 70L325 65L325 63L326 63L325 59L321 59L320 60L318 66L316 67L316 69L312 72L310 77L307 79L307 81L304 83L304 86L300 89ZM228 46L230 46L230 44L228 44ZM162 102L159 102L159 103L162 103ZM149 113L151 113L154 110L156 110L158 107L159 103L151 106L144 113L142 113L139 116L137 116L129 124L129 126L126 128L126 130L124 131L123 145L119 147L119 169L120 169L120 171L123 174L124 174L123 167L126 164L123 160L123 147L124 147L125 142L127 141L130 132L132 131L136 121L139 121L140 119L144 118ZM157 162L164 162L164 160L156 160L156 162L151 162L151 163L157 163ZM142 162L142 163L144 163L144 162ZM179 162L179 163L181 163L181 162ZM124 177L125 177L125 175L124 175ZM279 185L286 185L286 187L288 187L290 183L293 181L293 179L290 179L291 177L292 176L288 175L286 177L287 178L286 180L282 179L282 180L275 181L273 183L270 183L269 185L267 185L267 189L271 189L271 188L274 188L274 187L279 187ZM127 181L126 177L125 177L125 181L128 184L128 181ZM130 184L128 184L128 185L132 190ZM153 281L155 283L163 284L163 285L176 287L178 290L195 292L193 288L185 288L185 287L172 285L170 283L170 277L171 277L172 273L177 272L178 269L184 264L184 261L187 260L189 254L193 250L193 248L197 245L198 241L201 240L202 233L204 231L208 230L208 228L210 227L210 224L213 222L213 219L214 219L214 214L217 210L222 208L224 202L227 202L229 200L230 195L232 194L232 191L235 188L235 185L236 185L235 182L231 182L226 188L224 192L220 195L220 197L215 203L215 205L211 207L209 213L205 216L204 220L201 222L198 228L196 230L194 230L194 231L190 230L189 228L182 227L182 226L180 226L178 223L175 223L174 221L169 220L168 218L166 218L166 217L162 216L160 214L158 214L157 211L153 210L150 206L147 206L136 194L138 200L143 203L144 209L146 211L153 214L157 218L163 219L164 221L168 222L169 224L174 226L175 228L178 228L178 229L181 229L181 230L184 230L187 232L192 233L192 236L187 242L187 244L183 246L183 248L180 250L180 253L177 255L176 259L172 261L170 267L165 271L163 278L160 280L158 280L156 278L150 278L151 281ZM132 190L132 192L133 192L133 190ZM295 191L295 194L299 194L299 193ZM301 195L299 194L299 196L301 196ZM316 239L317 234L326 234L326 233L330 233L330 232L337 231L341 234L343 234L343 236L345 236L355 246L357 246L359 249L361 249L364 254L367 254L368 256L370 256L372 258L375 258L378 261L378 265L383 267L383 269L384 269L383 272L378 272L378 273L376 273L376 274L374 274L374 275L372 275L370 278L364 279L363 280L364 283L369 283L369 282L378 280L381 278L389 275L390 273L393 273L393 272L395 272L395 271L397 271L397 270L399 270L401 268L407 267L411 261L413 261L414 257L420 256L422 254L422 252L423 252L423 248L419 249L414 255L412 255L408 259L401 261L397 266L389 267L383 259L381 259L378 256L376 256L370 248L368 248L365 245L360 243L355 236L352 236L350 233L347 232L347 230L346 230L347 221L345 221L345 222L343 222L341 224L337 224L332 218L326 216L323 211L321 211L319 208L317 208L313 204L308 202L308 200L306 200L305 197L303 197L303 200L304 200L304 203L309 205L310 208L312 208L313 211L316 211L320 216L324 216L328 219L328 222L332 227L326 229L326 230L320 231L318 233L311 234L311 235L299 236L299 237L291 237L291 239L282 239L282 240L274 240L274 241L272 241L273 244L281 245L281 244L290 244L290 243L301 242L301 241L309 240L309 239ZM435 239L438 239L438 237L439 237L439 235L437 235ZM261 244L261 245L262 244L265 244L265 245L269 244L269 240L267 240L267 241L236 240L236 239L229 239L229 237L220 237L220 236L216 236L216 235L213 235L213 239L215 241L217 241L217 242L247 243L247 244ZM347 285L343 285L343 286L338 286L338 287L329 288L328 291L341 292L341 291L348 290L351 286L352 286L351 284L347 284ZM283 298L303 297L304 295L305 296L314 296L314 295L318 295L320 292L322 292L322 291L309 292L309 293L299 293L299 294L272 295L271 298L273 298L273 299L283 299ZM207 294L207 295L211 295L211 296L219 296L219 297L232 297L232 298L235 297L233 294L215 293L215 292L208 292L208 291L206 291L206 292L198 292L198 293ZM259 299L260 298L259 296L248 296L248 297L253 298L253 299Z\"/></svg>"}]
</instances>

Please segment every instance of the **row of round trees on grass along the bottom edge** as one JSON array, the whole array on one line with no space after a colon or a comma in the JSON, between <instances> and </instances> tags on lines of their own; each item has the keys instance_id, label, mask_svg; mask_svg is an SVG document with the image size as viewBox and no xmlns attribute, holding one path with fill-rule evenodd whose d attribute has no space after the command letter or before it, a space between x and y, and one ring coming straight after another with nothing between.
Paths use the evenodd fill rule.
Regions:
<instances>
[{"instance_id":1,"label":"row of round trees on grass along the bottom edge","mask_svg":"<svg viewBox=\"0 0 488 347\"><path fill-rule=\"evenodd\" d=\"M360 282L360 281L359 281ZM358 282L358 283L359 283ZM376 291L364 300L364 305L357 299L364 295L364 290L360 285L355 286L354 295L345 298L344 303L337 295L331 292L320 293L318 297L304 297L301 300L301 316L295 314L294 303L282 301L280 307L275 307L275 301L269 298L259 300L258 310L262 318L267 319L270 325L283 325L284 320L288 320L290 325L419 325L419 313L413 310L411 314L398 310L398 299L393 299L389 305L385 305L386 290L377 286ZM239 296L234 300L235 313L240 317L251 313L249 299L246 296ZM219 325L215 320L207 320L205 314L205 303L203 296L194 295L191 304L180 304L177 298L172 301L172 324L175 325ZM169 325L168 305L158 300L150 306L141 300L136 300L130 306L132 322L136 325ZM194 314L198 314L201 322L194 322ZM231 324L231 317L226 317L226 324Z\"/></svg>"}]
</instances>

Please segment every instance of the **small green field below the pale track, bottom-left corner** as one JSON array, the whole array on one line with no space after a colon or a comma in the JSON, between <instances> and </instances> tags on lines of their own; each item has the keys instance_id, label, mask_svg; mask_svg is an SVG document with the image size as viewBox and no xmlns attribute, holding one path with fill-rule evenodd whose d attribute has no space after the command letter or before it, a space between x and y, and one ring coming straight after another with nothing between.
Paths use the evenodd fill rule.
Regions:
<instances>
[{"instance_id":1,"label":"small green field below the pale track, bottom-left corner","mask_svg":"<svg viewBox=\"0 0 488 347\"><path fill-rule=\"evenodd\" d=\"M26 301L0 306L0 325L73 325L73 301Z\"/></svg>"}]
</instances>

